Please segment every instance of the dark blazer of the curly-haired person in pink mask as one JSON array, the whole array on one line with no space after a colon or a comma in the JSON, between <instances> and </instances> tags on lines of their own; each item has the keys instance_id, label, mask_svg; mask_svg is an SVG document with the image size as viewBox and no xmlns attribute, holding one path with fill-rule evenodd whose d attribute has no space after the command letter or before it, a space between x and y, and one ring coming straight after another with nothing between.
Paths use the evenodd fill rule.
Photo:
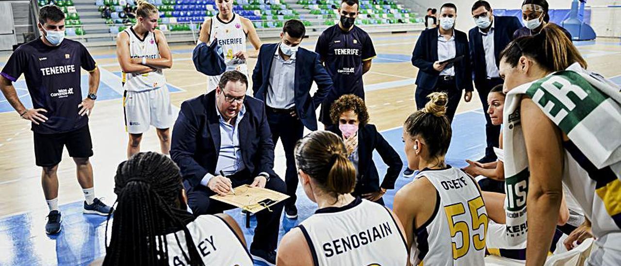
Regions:
<instances>
[{"instance_id":1,"label":"dark blazer of the curly-haired person in pink mask","mask_svg":"<svg viewBox=\"0 0 621 266\"><path fill-rule=\"evenodd\" d=\"M343 133L338 129L338 125L329 126L327 131L333 132L342 137ZM373 162L373 150L378 150L379 156L382 157L384 163L388 165L386 175L382 181L381 187L391 190L394 188L394 182L401 173L403 162L399 154L392 149L386 139L379 134L378 129L371 124L358 127L358 173L356 173L357 181L356 194L371 193L379 191L379 174L378 168Z\"/></svg>"}]
</instances>

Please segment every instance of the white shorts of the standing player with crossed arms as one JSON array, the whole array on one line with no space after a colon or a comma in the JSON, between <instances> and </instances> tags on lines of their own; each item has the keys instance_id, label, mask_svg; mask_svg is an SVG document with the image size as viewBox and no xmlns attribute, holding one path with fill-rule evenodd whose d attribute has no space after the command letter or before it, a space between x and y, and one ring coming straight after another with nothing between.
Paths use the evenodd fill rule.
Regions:
<instances>
[{"instance_id":1,"label":"white shorts of the standing player with crossed arms","mask_svg":"<svg viewBox=\"0 0 621 266\"><path fill-rule=\"evenodd\" d=\"M123 96L125 130L130 134L147 132L149 125L168 129L173 124L173 107L168 86L148 91L125 91Z\"/></svg>"}]
</instances>

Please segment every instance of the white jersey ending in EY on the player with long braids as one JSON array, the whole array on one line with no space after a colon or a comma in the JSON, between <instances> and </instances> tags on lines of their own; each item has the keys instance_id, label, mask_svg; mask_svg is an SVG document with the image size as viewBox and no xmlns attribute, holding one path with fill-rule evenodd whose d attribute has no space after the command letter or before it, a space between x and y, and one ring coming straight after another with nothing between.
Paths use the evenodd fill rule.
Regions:
<instances>
[{"instance_id":1,"label":"white jersey ending in EY on the player with long braids","mask_svg":"<svg viewBox=\"0 0 621 266\"><path fill-rule=\"evenodd\" d=\"M253 265L250 253L229 225L215 215L201 215L188 224L188 230L205 265ZM183 231L166 235L168 265L188 265L179 244L188 255Z\"/></svg>"}]
</instances>

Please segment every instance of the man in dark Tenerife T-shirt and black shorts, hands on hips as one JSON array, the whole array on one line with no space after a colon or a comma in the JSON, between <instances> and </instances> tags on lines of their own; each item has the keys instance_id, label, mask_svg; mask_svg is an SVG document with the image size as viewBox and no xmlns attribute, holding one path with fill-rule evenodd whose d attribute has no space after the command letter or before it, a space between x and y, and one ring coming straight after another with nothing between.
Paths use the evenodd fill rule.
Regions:
<instances>
[{"instance_id":1,"label":"man in dark Tenerife T-shirt and black shorts, hands on hips","mask_svg":"<svg viewBox=\"0 0 621 266\"><path fill-rule=\"evenodd\" d=\"M40 39L21 45L0 73L0 89L22 119L32 121L35 158L43 168L42 185L50 213L45 232L61 229L58 210L57 169L66 145L76 163L78 182L84 193L84 213L107 215L112 208L95 198L93 144L88 116L93 110L99 87L99 70L86 47L66 40L65 14L57 6L43 6L39 11ZM80 68L89 71L88 97L82 99ZM25 76L33 109L26 109L12 83Z\"/></svg>"}]
</instances>

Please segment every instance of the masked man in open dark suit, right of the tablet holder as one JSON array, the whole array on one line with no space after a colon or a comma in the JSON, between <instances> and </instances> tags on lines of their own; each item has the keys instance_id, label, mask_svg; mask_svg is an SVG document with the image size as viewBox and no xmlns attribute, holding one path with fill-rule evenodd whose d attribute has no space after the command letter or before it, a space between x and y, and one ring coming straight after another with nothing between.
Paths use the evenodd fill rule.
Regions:
<instances>
[{"instance_id":1,"label":"masked man in open dark suit, right of the tablet holder","mask_svg":"<svg viewBox=\"0 0 621 266\"><path fill-rule=\"evenodd\" d=\"M520 29L522 24L517 17L494 16L494 10L487 1L474 2L472 17L476 27L468 32L470 56L473 65L474 86L479 92L479 98L483 104L487 139L485 157L481 158L479 162L488 163L496 160L494 147L498 147L501 127L492 125L492 121L489 119L487 94L494 86L503 83L498 71L501 59L498 55L511 42L513 33Z\"/></svg>"}]
</instances>

